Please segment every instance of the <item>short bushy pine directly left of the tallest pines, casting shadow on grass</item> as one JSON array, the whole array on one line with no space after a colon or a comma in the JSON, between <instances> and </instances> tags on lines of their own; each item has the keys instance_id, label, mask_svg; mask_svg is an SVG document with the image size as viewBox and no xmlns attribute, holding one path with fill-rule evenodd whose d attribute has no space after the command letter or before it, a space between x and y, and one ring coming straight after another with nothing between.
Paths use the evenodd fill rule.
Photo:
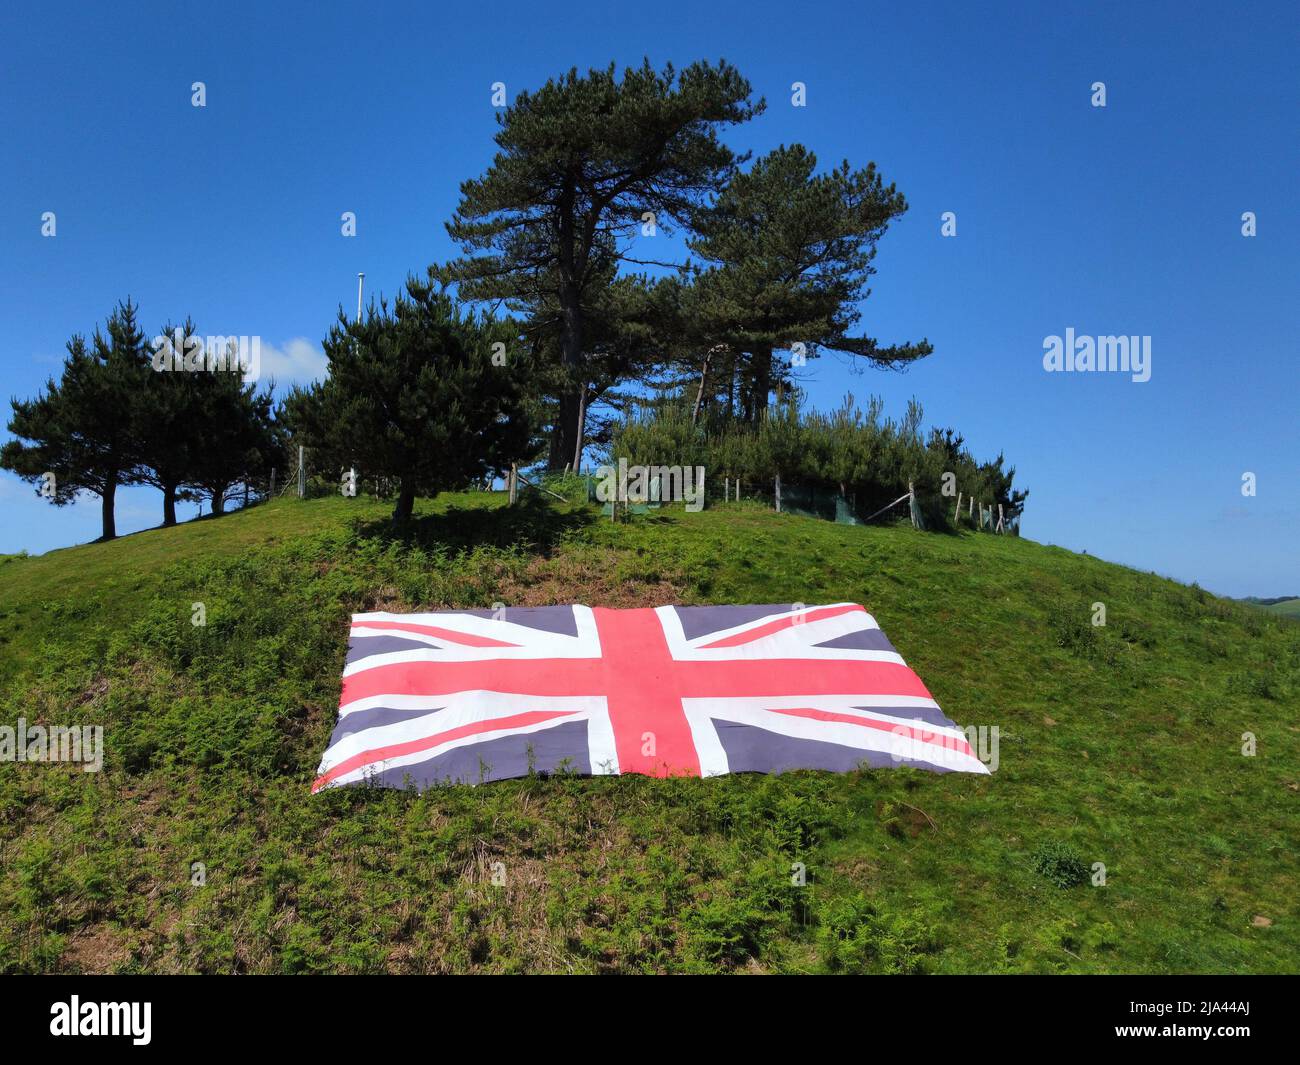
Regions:
<instances>
[{"instance_id":1,"label":"short bushy pine directly left of the tallest pines, casting shadow on grass","mask_svg":"<svg viewBox=\"0 0 1300 1065\"><path fill-rule=\"evenodd\" d=\"M317 464L396 481L395 520L417 494L481 482L528 454L532 373L515 324L463 315L411 280L391 309L339 313L324 347L329 376L294 389L285 417Z\"/></svg>"}]
</instances>

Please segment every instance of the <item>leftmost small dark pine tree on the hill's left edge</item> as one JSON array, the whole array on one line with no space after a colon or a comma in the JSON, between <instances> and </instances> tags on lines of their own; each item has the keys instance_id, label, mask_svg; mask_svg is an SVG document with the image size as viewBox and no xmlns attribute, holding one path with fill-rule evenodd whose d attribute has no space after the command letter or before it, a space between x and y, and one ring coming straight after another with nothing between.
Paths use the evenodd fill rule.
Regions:
<instances>
[{"instance_id":1,"label":"leftmost small dark pine tree on the hill's left edge","mask_svg":"<svg viewBox=\"0 0 1300 1065\"><path fill-rule=\"evenodd\" d=\"M127 299L90 345L81 335L68 342L57 382L51 378L35 399L10 402L9 432L18 440L0 449L0 466L38 485L53 475L49 499L56 506L82 492L99 495L101 540L112 540L117 489L140 476L138 411L150 372L144 334Z\"/></svg>"}]
</instances>

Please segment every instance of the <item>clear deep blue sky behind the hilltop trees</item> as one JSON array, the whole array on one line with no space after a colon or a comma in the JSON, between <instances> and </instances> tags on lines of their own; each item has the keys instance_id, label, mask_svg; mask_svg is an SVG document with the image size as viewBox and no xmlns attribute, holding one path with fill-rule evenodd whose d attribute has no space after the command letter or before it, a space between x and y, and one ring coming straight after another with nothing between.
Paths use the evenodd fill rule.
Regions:
<instances>
[{"instance_id":1,"label":"clear deep blue sky behind the hilltop trees","mask_svg":"<svg viewBox=\"0 0 1300 1065\"><path fill-rule=\"evenodd\" d=\"M442 222L493 152L493 82L514 95L573 65L725 57L768 101L733 146L875 160L911 204L881 242L864 328L936 352L902 376L820 360L814 403L875 391L898 414L916 395L976 455L1006 453L1035 540L1223 594L1300 594L1296 10L6 5L0 398L34 394L127 294L151 332L192 315L263 337L281 380L309 377L358 270L391 293L451 254ZM1044 338L1067 328L1150 335L1152 380L1045 373ZM160 510L151 489L122 492L118 529ZM0 551L99 532L98 501L55 508L8 473L0 514Z\"/></svg>"}]
</instances>

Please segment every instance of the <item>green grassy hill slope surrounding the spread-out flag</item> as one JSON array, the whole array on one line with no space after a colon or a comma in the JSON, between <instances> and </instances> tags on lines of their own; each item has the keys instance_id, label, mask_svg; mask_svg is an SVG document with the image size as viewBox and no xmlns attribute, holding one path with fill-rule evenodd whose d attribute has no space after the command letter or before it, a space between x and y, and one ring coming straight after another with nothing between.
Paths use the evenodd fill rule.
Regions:
<instances>
[{"instance_id":1,"label":"green grassy hill slope surrounding the spread-out flag","mask_svg":"<svg viewBox=\"0 0 1300 1065\"><path fill-rule=\"evenodd\" d=\"M283 501L0 566L0 723L107 748L99 774L0 765L0 970L1300 969L1294 623L1027 540L744 503L615 527L454 495L407 538L385 511ZM998 726L996 772L308 792L351 611L842 599Z\"/></svg>"}]
</instances>

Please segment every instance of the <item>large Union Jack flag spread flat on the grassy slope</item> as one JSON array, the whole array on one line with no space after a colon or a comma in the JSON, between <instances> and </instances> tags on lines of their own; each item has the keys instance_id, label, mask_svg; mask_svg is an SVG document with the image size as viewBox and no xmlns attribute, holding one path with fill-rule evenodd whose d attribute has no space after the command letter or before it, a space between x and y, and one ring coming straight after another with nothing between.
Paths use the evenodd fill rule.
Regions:
<instances>
[{"instance_id":1,"label":"large Union Jack flag spread flat on the grassy slope","mask_svg":"<svg viewBox=\"0 0 1300 1065\"><path fill-rule=\"evenodd\" d=\"M861 765L988 772L854 603L355 614L312 791Z\"/></svg>"}]
</instances>

